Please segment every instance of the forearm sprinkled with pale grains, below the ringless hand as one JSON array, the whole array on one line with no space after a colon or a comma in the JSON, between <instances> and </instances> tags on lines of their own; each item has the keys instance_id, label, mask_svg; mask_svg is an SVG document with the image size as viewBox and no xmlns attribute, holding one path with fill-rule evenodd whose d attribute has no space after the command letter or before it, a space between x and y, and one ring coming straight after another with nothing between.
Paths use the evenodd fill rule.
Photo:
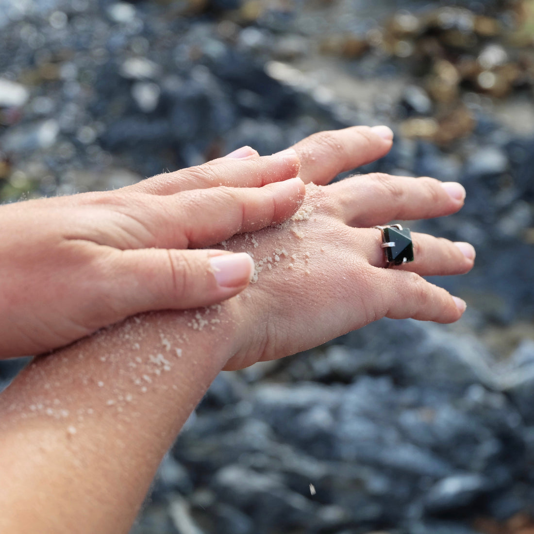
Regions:
<instances>
[{"instance_id":1,"label":"forearm sprinkled with pale grains, below the ringless hand","mask_svg":"<svg viewBox=\"0 0 534 534\"><path fill-rule=\"evenodd\" d=\"M37 358L0 397L0 530L128 532L232 354L228 317L154 313Z\"/></svg>"}]
</instances>

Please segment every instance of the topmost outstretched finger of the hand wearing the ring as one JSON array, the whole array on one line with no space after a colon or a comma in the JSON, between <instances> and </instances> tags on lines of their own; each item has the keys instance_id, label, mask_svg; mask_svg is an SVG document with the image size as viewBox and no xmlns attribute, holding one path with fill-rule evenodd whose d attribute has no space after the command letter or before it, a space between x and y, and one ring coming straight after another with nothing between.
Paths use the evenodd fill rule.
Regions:
<instances>
[{"instance_id":1,"label":"topmost outstretched finger of the hand wearing the ring","mask_svg":"<svg viewBox=\"0 0 534 534\"><path fill-rule=\"evenodd\" d=\"M393 132L387 126L354 126L314 133L293 148L301 161L305 184L324 185L340 172L382 158L391 148Z\"/></svg>"}]
</instances>

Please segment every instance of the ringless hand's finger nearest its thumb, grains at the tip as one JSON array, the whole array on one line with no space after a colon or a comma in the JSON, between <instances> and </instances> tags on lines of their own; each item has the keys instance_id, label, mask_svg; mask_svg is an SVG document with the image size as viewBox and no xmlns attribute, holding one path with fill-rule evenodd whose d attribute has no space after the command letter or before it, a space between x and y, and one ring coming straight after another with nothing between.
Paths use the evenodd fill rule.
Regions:
<instances>
[{"instance_id":1,"label":"ringless hand's finger nearest its thumb, grains at the tip","mask_svg":"<svg viewBox=\"0 0 534 534\"><path fill-rule=\"evenodd\" d=\"M263 187L211 187L160 197L140 208L145 214L140 242L159 248L215 245L237 233L285 221L300 207L304 194L302 180L292 178Z\"/></svg>"}]
</instances>

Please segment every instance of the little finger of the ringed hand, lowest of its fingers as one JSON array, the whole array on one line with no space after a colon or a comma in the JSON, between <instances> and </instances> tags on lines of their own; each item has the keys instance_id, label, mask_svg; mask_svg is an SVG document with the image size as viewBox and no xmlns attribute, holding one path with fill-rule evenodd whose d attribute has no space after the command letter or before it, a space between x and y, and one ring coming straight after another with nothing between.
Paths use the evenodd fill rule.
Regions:
<instances>
[{"instance_id":1,"label":"little finger of the ringed hand, lowest of its fingers","mask_svg":"<svg viewBox=\"0 0 534 534\"><path fill-rule=\"evenodd\" d=\"M376 271L379 287L387 288L382 295L384 317L453 323L466 309L464 301L419 274L394 269Z\"/></svg>"}]
</instances>

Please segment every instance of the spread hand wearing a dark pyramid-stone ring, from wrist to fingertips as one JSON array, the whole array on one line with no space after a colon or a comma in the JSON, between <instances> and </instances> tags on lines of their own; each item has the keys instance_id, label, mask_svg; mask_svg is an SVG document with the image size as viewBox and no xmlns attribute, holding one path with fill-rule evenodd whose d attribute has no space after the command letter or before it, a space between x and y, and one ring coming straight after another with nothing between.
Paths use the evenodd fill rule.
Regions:
<instances>
[{"instance_id":1,"label":"spread hand wearing a dark pyramid-stone ring, from wrist to fingertips","mask_svg":"<svg viewBox=\"0 0 534 534\"><path fill-rule=\"evenodd\" d=\"M367 150L370 135L359 128L305 139L295 146L301 176L325 184L375 159L376 151ZM336 153L318 167L321 145ZM238 327L225 369L294 354L381 317L456 321L465 303L422 276L467 272L473 247L413 233L415 261L385 269L381 234L372 226L450 215L464 197L460 184L426 177L373 174L310 184L289 222L254 233L255 248L246 234L227 241L228 249L253 256L257 282L231 301Z\"/></svg>"}]
</instances>

